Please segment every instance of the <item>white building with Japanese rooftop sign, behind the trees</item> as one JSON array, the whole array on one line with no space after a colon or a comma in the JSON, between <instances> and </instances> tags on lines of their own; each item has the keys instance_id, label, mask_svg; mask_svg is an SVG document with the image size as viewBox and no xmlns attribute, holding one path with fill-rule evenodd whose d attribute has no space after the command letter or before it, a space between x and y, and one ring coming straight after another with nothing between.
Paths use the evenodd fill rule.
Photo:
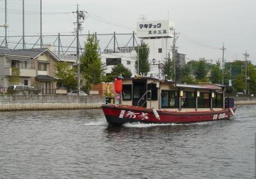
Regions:
<instances>
[{"instance_id":1,"label":"white building with Japanese rooftop sign, behind the trees","mask_svg":"<svg viewBox=\"0 0 256 179\"><path fill-rule=\"evenodd\" d=\"M172 55L173 30L173 22L169 20L137 22L137 37L148 44L150 50L148 60L151 70L148 76L163 78L161 66L163 66L168 53ZM102 63L105 63L107 67L106 74L111 72L113 66L122 63L131 70L134 76L136 58L135 47L118 48L115 53L105 50L101 54Z\"/></svg>"}]
</instances>

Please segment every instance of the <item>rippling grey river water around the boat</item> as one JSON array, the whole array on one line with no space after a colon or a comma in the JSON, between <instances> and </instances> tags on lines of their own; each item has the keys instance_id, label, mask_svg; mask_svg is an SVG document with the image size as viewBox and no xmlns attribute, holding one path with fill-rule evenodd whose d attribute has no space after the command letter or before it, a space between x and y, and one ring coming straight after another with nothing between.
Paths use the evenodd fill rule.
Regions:
<instances>
[{"instance_id":1,"label":"rippling grey river water around the boat","mask_svg":"<svg viewBox=\"0 0 256 179\"><path fill-rule=\"evenodd\" d=\"M252 179L256 105L231 120L108 127L101 109L0 114L1 179Z\"/></svg>"}]
</instances>

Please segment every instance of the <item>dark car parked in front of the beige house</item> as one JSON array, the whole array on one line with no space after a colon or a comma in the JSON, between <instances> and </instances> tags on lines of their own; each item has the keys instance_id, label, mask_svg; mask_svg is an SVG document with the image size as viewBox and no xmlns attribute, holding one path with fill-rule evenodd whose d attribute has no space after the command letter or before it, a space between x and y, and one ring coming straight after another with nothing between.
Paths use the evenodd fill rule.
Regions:
<instances>
[{"instance_id":1,"label":"dark car parked in front of the beige house","mask_svg":"<svg viewBox=\"0 0 256 179\"><path fill-rule=\"evenodd\" d=\"M7 88L9 94L39 94L40 90L26 85L10 85Z\"/></svg>"}]
</instances>

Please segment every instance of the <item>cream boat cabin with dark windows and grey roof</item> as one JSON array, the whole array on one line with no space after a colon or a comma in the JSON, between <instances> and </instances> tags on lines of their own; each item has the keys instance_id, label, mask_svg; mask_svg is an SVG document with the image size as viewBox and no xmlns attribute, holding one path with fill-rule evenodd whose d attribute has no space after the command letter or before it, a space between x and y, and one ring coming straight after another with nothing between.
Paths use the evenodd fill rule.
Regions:
<instances>
[{"instance_id":1,"label":"cream boat cabin with dark windows and grey roof","mask_svg":"<svg viewBox=\"0 0 256 179\"><path fill-rule=\"evenodd\" d=\"M224 86L186 85L140 77L122 79L122 105L168 111L217 111L224 109Z\"/></svg>"}]
</instances>

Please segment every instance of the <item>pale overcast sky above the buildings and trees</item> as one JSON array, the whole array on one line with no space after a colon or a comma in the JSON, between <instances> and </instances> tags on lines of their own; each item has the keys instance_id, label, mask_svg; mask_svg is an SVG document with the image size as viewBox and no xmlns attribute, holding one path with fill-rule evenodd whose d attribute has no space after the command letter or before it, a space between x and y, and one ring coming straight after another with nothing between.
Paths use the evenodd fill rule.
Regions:
<instances>
[{"instance_id":1,"label":"pale overcast sky above the buildings and trees","mask_svg":"<svg viewBox=\"0 0 256 179\"><path fill-rule=\"evenodd\" d=\"M0 0L0 25L4 24L4 2ZM24 2L25 34L39 35L40 0ZM167 20L169 14L180 33L179 52L188 59L215 61L222 57L218 49L224 42L226 61L241 59L247 50L249 60L256 64L255 0L43 0L43 34L71 33L76 20L71 12L76 4L88 12L83 33L132 33L140 15L148 20ZM7 0L7 9L8 35L22 35L22 0ZM4 36L2 27L0 36ZM117 40L122 45L129 39ZM33 41L28 38L26 42Z\"/></svg>"}]
</instances>

